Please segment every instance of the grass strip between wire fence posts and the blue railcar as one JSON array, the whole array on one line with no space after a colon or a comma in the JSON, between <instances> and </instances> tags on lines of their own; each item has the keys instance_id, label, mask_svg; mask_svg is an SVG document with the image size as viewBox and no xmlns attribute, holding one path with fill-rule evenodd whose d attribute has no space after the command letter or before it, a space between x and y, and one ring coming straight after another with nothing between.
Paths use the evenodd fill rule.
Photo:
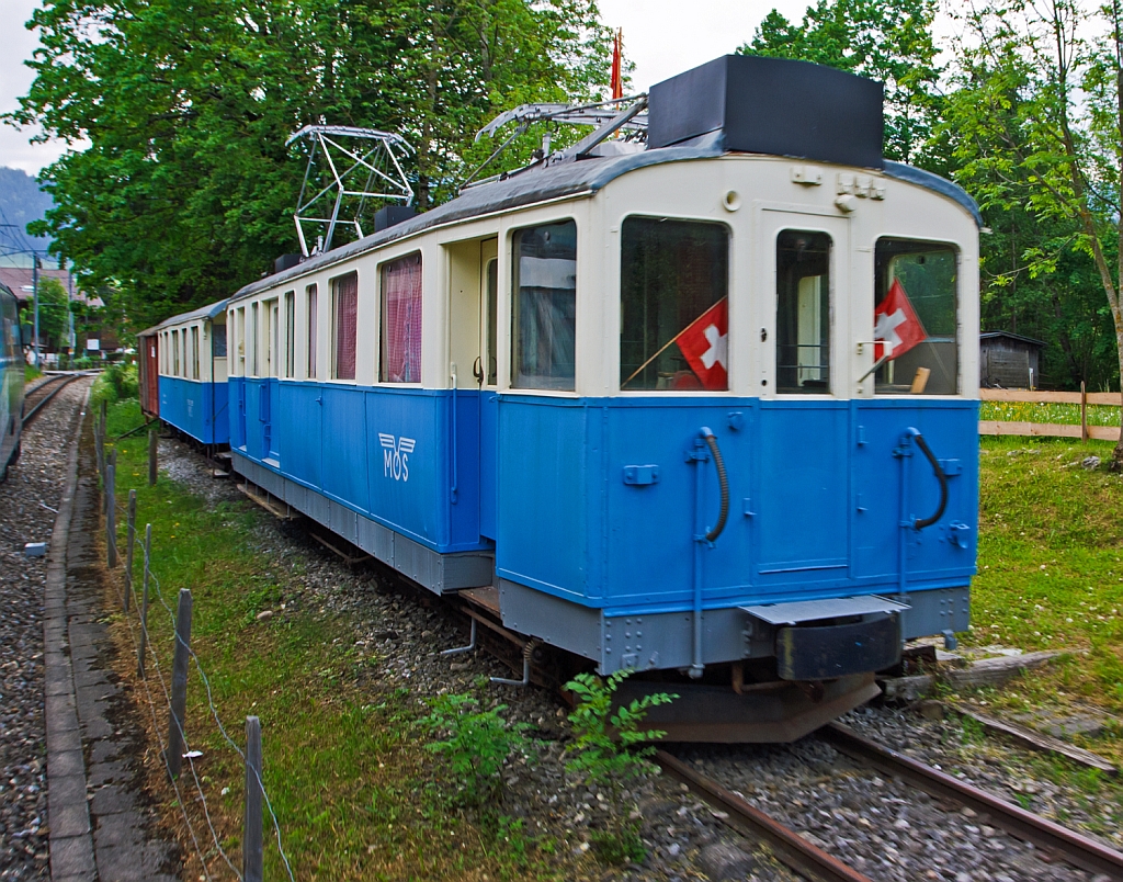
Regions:
<instances>
[{"instance_id":1,"label":"grass strip between wire fence posts and the blue railcar","mask_svg":"<svg viewBox=\"0 0 1123 882\"><path fill-rule=\"evenodd\" d=\"M109 406L110 436L139 422L135 400ZM299 558L270 561L253 547L253 530L267 516L243 502L208 509L203 500L164 476L148 488L146 442L140 435L117 445L118 499L127 499L130 488L137 490L139 531L143 536L143 525L152 522L153 571L167 604L174 608L181 588L192 590L192 648L210 678L214 703L231 737L241 744L246 715L261 718L264 780L295 878L481 882L573 878L572 867L560 867L550 856L556 851L568 855L568 849L531 838L499 809L475 813L449 809L432 756L423 749L418 725L424 713L421 697L377 683L360 685L364 670L378 660L353 653L349 622L319 602L305 606ZM139 563L136 572L139 581ZM257 621L264 609L276 615ZM121 663L122 674L129 676L135 665L129 658L135 656L124 617L115 618L118 638L130 651L122 653ZM172 624L158 601L150 607L149 629L166 679ZM150 670L149 676L155 672ZM152 683L162 702L163 693L155 680ZM144 704L143 686L135 694ZM161 727L167 718L162 707L157 703ZM152 729L150 716L148 724ZM202 751L195 765L219 842L238 865L244 771L209 715L193 666L185 728L190 746ZM155 744L155 733L149 735ZM180 809L163 783L162 766L152 756L148 765L165 817L182 836ZM197 799L188 799L193 784L186 764L183 780L189 812L207 837L201 843L210 871L225 878L229 870L208 842ZM265 820L265 875L283 879L267 813ZM200 872L194 860L184 878Z\"/></svg>"}]
</instances>

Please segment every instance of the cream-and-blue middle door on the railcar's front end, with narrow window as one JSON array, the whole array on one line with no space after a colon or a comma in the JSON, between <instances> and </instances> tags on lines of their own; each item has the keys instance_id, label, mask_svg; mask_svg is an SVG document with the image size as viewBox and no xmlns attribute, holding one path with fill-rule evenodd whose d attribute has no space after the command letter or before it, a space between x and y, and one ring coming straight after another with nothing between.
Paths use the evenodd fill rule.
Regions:
<instances>
[{"instance_id":1,"label":"cream-and-blue middle door on the railcar's front end, with narrow window","mask_svg":"<svg viewBox=\"0 0 1123 882\"><path fill-rule=\"evenodd\" d=\"M777 599L849 576L848 426L842 333L849 226L839 217L763 210L759 443L750 511L755 581Z\"/></svg>"}]
</instances>

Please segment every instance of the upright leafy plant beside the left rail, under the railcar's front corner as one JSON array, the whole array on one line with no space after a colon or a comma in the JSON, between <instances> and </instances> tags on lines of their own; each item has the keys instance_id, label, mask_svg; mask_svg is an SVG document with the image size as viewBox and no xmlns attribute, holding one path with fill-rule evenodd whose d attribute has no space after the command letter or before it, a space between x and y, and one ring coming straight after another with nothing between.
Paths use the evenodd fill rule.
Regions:
<instances>
[{"instance_id":1,"label":"upright leafy plant beside the left rail, under the railcar's front corner","mask_svg":"<svg viewBox=\"0 0 1123 882\"><path fill-rule=\"evenodd\" d=\"M631 673L617 671L606 680L582 673L566 683L566 689L577 697L577 706L569 713L574 743L569 748L573 758L566 769L608 789L617 803L624 786L651 771L647 757L655 753L655 747L649 742L665 735L657 729L640 728L648 710L678 698L658 692L615 706L615 692ZM597 856L608 863L642 861L646 854L639 824L630 815L621 818L614 813L608 829L594 830L591 842Z\"/></svg>"}]
</instances>

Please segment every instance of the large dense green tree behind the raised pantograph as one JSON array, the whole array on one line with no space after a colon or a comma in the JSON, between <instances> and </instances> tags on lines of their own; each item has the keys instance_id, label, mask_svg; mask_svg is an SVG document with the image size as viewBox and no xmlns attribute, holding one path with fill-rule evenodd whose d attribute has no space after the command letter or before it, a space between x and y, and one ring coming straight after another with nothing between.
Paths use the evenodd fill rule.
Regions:
<instances>
[{"instance_id":1,"label":"large dense green tree behind the raised pantograph","mask_svg":"<svg viewBox=\"0 0 1123 882\"><path fill-rule=\"evenodd\" d=\"M491 116L606 82L597 16L594 0L46 0L7 119L90 146L44 172L37 231L133 329L221 299L295 251L292 131L400 131L428 208L487 155L473 137Z\"/></svg>"}]
</instances>

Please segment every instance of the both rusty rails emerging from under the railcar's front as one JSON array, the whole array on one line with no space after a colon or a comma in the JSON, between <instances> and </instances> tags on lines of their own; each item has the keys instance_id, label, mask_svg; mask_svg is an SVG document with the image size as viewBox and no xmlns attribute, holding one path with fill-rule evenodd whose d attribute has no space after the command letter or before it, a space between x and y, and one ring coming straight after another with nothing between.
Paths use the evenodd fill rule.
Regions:
<instances>
[{"instance_id":1,"label":"both rusty rails emerging from under the railcar's front","mask_svg":"<svg viewBox=\"0 0 1123 882\"><path fill-rule=\"evenodd\" d=\"M937 799L969 808L1015 838L1032 843L1050 858L1062 860L1095 874L1097 879L1123 880L1123 853L1110 846L877 744L842 724L829 724L818 735L860 765L900 779ZM870 882L869 876L828 854L678 757L658 751L655 760L665 773L728 815L728 822L767 842L777 857L796 872L824 882Z\"/></svg>"}]
</instances>

